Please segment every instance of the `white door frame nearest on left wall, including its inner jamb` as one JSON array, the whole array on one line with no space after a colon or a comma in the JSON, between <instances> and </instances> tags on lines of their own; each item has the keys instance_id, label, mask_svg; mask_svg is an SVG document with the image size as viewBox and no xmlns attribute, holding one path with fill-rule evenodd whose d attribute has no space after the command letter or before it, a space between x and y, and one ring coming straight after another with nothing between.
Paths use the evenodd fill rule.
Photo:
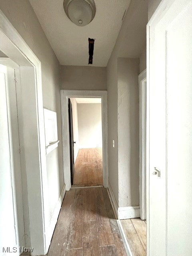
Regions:
<instances>
[{"instance_id":1,"label":"white door frame nearest on left wall, including its inner jamb","mask_svg":"<svg viewBox=\"0 0 192 256\"><path fill-rule=\"evenodd\" d=\"M24 158L21 169L26 191L25 233L29 236L26 246L34 248L31 255L42 255L48 252L53 230L49 218L41 62L1 10L0 44L2 52L20 66L16 84L22 89L18 94L18 121Z\"/></svg>"}]
</instances>

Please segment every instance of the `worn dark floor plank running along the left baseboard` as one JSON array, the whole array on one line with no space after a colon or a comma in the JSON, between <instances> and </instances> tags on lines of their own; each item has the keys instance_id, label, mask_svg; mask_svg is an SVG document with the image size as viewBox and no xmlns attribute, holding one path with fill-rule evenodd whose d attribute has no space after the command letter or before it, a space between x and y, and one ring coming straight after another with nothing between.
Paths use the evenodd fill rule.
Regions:
<instances>
[{"instance_id":1,"label":"worn dark floor plank running along the left baseboard","mask_svg":"<svg viewBox=\"0 0 192 256\"><path fill-rule=\"evenodd\" d=\"M56 228L52 236L48 256L65 254L74 197L75 191L70 190L67 191L65 194L60 214L58 217L58 222L56 224Z\"/></svg>"}]
</instances>

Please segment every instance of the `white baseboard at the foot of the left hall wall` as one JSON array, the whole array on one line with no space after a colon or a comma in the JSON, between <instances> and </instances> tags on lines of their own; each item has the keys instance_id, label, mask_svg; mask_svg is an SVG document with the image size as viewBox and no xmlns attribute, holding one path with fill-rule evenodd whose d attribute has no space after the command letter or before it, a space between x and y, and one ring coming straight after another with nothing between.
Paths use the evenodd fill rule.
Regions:
<instances>
[{"instance_id":1,"label":"white baseboard at the foot of the left hall wall","mask_svg":"<svg viewBox=\"0 0 192 256\"><path fill-rule=\"evenodd\" d=\"M53 232L54 232L54 229L55 229L55 226L56 226L56 223L57 223L57 219L58 219L58 216L59 216L59 212L60 212L60 209L61 209L61 206L62 206L62 202L63 202L63 199L64 199L64 196L65 196L65 192L66 192L66 189L65 189L65 185L63 186L63 189L62 189L62 192L60 194L60 197L56 203L56 206L54 208L54 211L51 215L51 218L50 218L50 236L53 235Z\"/></svg>"}]
</instances>

